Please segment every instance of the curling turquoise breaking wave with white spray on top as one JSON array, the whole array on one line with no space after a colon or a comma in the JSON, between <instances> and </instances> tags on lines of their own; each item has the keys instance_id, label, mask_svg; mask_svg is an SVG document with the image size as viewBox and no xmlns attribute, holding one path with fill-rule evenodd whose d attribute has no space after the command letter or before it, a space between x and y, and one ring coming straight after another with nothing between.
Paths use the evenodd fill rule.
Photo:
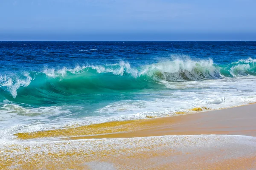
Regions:
<instances>
[{"instance_id":1,"label":"curling turquoise breaking wave with white spray on top","mask_svg":"<svg viewBox=\"0 0 256 170\"><path fill-rule=\"evenodd\" d=\"M204 81L225 77L256 75L256 59L228 65L216 65L212 59L175 59L132 68L121 61L107 65L84 65L73 69L53 68L12 76L0 76L0 90L5 96L51 96L90 94L96 91L165 88L166 82ZM58 95L56 97L59 97Z\"/></svg>"}]
</instances>

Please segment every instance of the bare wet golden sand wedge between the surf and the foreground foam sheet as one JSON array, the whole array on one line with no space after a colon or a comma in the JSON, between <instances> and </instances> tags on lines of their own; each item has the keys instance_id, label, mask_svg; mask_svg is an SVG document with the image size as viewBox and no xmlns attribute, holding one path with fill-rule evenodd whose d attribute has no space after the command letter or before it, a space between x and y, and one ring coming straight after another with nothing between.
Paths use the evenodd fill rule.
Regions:
<instances>
[{"instance_id":1,"label":"bare wet golden sand wedge between the surf and the foreground foam sheet","mask_svg":"<svg viewBox=\"0 0 256 170\"><path fill-rule=\"evenodd\" d=\"M254 108L256 108L256 103L250 103L231 108L191 112L177 116L105 122L32 133L16 133L15 136L17 136L16 139L41 139L47 137L58 138L60 140L199 134L256 136L256 125L247 126L248 124L253 124L253 121L256 121L256 115L251 113L251 110L253 111ZM236 119L241 118L240 113L244 110L246 111L244 119L241 122L236 121ZM233 112L233 114L230 112ZM233 119L224 123L225 119L230 119L230 116ZM223 120L219 120L218 117L222 117ZM208 121L208 126L203 123L205 121ZM240 127L236 127L236 125ZM241 127L241 125L244 127Z\"/></svg>"}]
</instances>

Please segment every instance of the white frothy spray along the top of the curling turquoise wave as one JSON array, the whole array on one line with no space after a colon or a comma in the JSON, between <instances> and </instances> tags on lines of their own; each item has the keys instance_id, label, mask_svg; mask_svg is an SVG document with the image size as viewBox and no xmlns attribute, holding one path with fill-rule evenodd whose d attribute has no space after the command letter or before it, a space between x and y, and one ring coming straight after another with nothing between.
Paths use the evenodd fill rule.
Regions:
<instances>
[{"instance_id":1,"label":"white frothy spray along the top of the curling turquoise wave","mask_svg":"<svg viewBox=\"0 0 256 170\"><path fill-rule=\"evenodd\" d=\"M239 62L232 63L230 70L227 70L233 77L247 76L248 71L251 71L251 66L254 63L253 59L241 60ZM254 65L254 64L253 64ZM254 66L253 66L254 67ZM221 68L214 65L212 59L206 60L192 60L192 59L174 59L173 61L159 62L152 65L145 65L140 68L131 68L128 62L119 62L118 64L107 65L87 65L77 66L74 69L62 68L60 70L46 69L44 71L47 76L58 77L65 76L67 72L79 74L83 72L85 68L95 69L99 74L112 73L115 75L123 76L124 73L131 74L134 78L141 75L148 75L150 77L156 77L156 74L160 73L162 79L167 81L186 81L194 80L201 81L206 79L219 79L225 77L220 73ZM74 72L74 70L76 70ZM159 77L158 77L159 78Z\"/></svg>"}]
</instances>

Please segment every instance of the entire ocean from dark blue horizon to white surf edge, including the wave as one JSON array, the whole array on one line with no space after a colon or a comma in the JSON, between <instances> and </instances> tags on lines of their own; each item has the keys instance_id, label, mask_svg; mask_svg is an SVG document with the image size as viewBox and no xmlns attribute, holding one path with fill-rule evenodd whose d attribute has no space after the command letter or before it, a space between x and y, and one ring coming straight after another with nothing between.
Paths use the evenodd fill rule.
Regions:
<instances>
[{"instance_id":1,"label":"entire ocean from dark blue horizon to white surf edge, including the wave","mask_svg":"<svg viewBox=\"0 0 256 170\"><path fill-rule=\"evenodd\" d=\"M256 102L256 42L0 42L0 138Z\"/></svg>"}]
</instances>

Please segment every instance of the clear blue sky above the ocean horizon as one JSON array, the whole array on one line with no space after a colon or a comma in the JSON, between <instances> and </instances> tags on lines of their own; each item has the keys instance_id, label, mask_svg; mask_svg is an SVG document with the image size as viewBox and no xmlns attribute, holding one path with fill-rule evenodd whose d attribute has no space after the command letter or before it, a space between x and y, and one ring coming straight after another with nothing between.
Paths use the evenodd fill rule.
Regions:
<instances>
[{"instance_id":1,"label":"clear blue sky above the ocean horizon","mask_svg":"<svg viewBox=\"0 0 256 170\"><path fill-rule=\"evenodd\" d=\"M256 40L256 0L0 0L0 40Z\"/></svg>"}]
</instances>

